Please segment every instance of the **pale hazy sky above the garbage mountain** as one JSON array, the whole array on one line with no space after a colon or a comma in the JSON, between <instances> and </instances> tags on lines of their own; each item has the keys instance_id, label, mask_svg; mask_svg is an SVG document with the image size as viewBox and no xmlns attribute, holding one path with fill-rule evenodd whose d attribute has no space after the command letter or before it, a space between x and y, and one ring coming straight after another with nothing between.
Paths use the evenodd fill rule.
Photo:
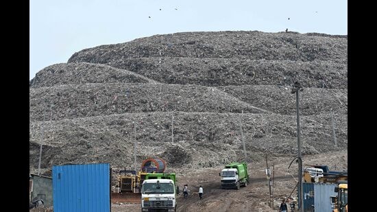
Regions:
<instances>
[{"instance_id":1,"label":"pale hazy sky above the garbage mountain","mask_svg":"<svg viewBox=\"0 0 377 212\"><path fill-rule=\"evenodd\" d=\"M175 32L348 34L345 0L33 0L29 79L77 51ZM150 18L149 18L150 17Z\"/></svg>"}]
</instances>

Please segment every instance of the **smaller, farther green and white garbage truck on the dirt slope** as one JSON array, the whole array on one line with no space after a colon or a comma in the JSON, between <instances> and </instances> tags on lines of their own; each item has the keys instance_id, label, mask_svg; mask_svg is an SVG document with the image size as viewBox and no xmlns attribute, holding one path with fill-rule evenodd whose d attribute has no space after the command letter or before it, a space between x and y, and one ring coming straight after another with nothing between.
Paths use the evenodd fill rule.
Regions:
<instances>
[{"instance_id":1,"label":"smaller, farther green and white garbage truck on the dirt slope","mask_svg":"<svg viewBox=\"0 0 377 212\"><path fill-rule=\"evenodd\" d=\"M219 176L221 176L221 189L239 189L241 186L246 187L249 182L246 163L227 164Z\"/></svg>"}]
</instances>

